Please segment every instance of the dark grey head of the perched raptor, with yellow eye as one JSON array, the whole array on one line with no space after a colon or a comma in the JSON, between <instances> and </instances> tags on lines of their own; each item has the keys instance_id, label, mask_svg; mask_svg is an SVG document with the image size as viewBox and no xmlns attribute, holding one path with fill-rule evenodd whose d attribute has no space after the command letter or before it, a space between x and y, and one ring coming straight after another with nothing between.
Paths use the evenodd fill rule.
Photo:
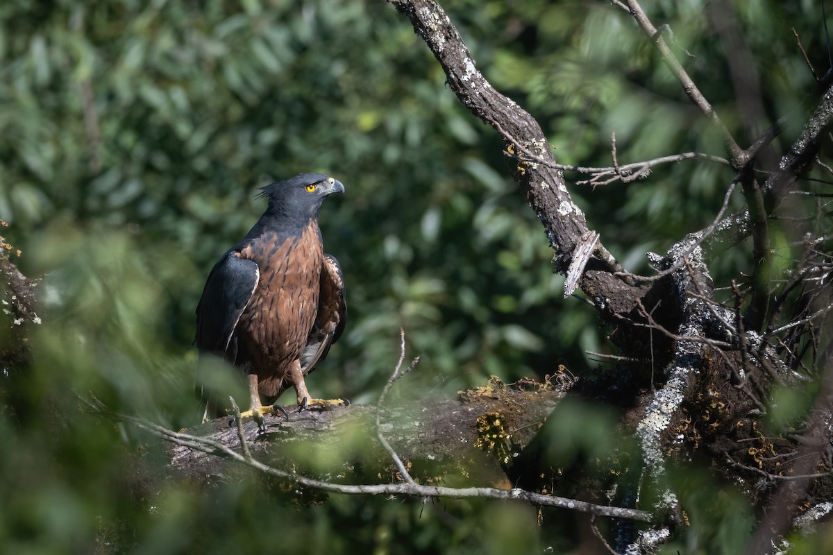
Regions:
<instances>
[{"instance_id":1,"label":"dark grey head of the perched raptor, with yellow eye","mask_svg":"<svg viewBox=\"0 0 833 555\"><path fill-rule=\"evenodd\" d=\"M317 217L324 199L333 193L343 193L344 186L330 176L302 173L262 187L261 191L257 197L269 199L267 213L292 218Z\"/></svg>"}]
</instances>

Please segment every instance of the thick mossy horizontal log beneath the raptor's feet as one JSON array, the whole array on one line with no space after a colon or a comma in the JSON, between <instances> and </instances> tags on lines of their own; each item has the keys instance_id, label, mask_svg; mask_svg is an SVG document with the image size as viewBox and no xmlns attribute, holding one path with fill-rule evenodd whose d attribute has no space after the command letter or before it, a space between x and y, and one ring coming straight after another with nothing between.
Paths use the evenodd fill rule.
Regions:
<instances>
[{"instance_id":1,"label":"thick mossy horizontal log beneath the raptor's feet","mask_svg":"<svg viewBox=\"0 0 833 555\"><path fill-rule=\"evenodd\" d=\"M380 410L378 429L417 482L508 489L503 468L530 445L568 383L565 377L558 384L509 386L492 379L457 399L389 402ZM267 415L265 431L248 419L242 429L252 456L275 468L342 483L397 480L397 466L378 439L376 418L375 405L303 412L292 407L288 417ZM231 417L183 431L242 449ZM166 444L161 454L176 478L197 483L247 472L227 458L182 444Z\"/></svg>"}]
</instances>

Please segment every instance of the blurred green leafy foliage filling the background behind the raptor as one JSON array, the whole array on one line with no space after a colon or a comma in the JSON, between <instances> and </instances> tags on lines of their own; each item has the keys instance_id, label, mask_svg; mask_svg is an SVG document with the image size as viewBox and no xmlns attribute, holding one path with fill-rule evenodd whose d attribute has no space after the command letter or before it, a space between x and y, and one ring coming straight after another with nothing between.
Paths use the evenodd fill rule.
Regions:
<instances>
[{"instance_id":1,"label":"blurred green leafy foliage filling the background behind the raptor","mask_svg":"<svg viewBox=\"0 0 833 555\"><path fill-rule=\"evenodd\" d=\"M612 132L620 163L724 154L634 22L606 2L446 3L486 77L541 121L559 161L610 165ZM651 17L671 25L677 55L742 136L705 3L653 2ZM824 67L816 4L732 6L768 115L796 116L813 80L791 27ZM302 171L347 187L321 225L350 317L314 391L374 401L400 327L422 358L392 396L453 395L490 374L541 379L561 362L581 374L597 364L586 350L609 349L604 330L589 307L561 299L511 168L494 131L456 101L407 18L384 2L0 3L0 217L24 273L47 276L43 323L27 324L31 371L0 378L0 552L575 546L571 515L545 511L538 527L536 511L517 505L333 496L295 507L270 493L263 507L252 483L142 488L128 469L147 438L77 407L76 395L92 392L174 428L195 421L193 311L205 277L263 210L256 187ZM646 250L711 221L729 181L725 167L690 161L572 192L606 246L641 270ZM733 275L746 258L726 253L717 271ZM566 451L557 463L615 441L610 415L573 409L555 425ZM705 474L685 479L716 487ZM687 553L746 533L715 519Z\"/></svg>"}]
</instances>

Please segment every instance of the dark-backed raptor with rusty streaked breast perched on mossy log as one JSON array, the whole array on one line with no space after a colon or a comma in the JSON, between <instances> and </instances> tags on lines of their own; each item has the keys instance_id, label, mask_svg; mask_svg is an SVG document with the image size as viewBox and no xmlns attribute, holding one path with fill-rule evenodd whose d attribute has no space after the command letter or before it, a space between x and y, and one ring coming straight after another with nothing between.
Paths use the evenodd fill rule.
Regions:
<instances>
[{"instance_id":1,"label":"dark-backed raptor with rusty streaked breast perched on mossy log","mask_svg":"<svg viewBox=\"0 0 833 555\"><path fill-rule=\"evenodd\" d=\"M324 254L318 229L324 199L344 186L307 173L262 191L267 211L208 275L196 341L201 355L215 354L247 374L252 407L242 415L260 423L290 385L302 408L342 402L312 399L304 376L327 356L347 316L342 270ZM205 419L217 413L216 400L206 400Z\"/></svg>"}]
</instances>

